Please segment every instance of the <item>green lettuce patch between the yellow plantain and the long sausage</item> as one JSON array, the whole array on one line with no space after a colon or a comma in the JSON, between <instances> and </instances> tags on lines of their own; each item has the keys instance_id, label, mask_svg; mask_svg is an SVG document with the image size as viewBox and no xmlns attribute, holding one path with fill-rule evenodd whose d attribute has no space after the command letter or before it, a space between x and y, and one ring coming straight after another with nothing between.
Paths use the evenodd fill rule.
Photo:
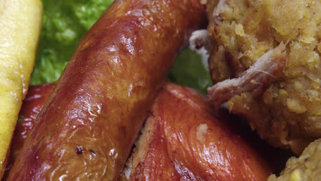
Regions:
<instances>
[{"instance_id":1,"label":"green lettuce patch between the yellow plantain and the long sausage","mask_svg":"<svg viewBox=\"0 0 321 181\"><path fill-rule=\"evenodd\" d=\"M43 0L45 10L30 84L55 82L78 42L112 0Z\"/></svg>"}]
</instances>

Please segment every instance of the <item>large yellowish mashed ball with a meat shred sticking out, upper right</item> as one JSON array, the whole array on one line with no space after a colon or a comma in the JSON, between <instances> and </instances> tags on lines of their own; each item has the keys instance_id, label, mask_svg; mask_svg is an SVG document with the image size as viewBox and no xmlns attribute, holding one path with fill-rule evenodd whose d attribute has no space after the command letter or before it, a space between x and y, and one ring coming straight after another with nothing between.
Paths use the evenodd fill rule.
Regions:
<instances>
[{"instance_id":1,"label":"large yellowish mashed ball with a meat shred sticking out, upper right","mask_svg":"<svg viewBox=\"0 0 321 181\"><path fill-rule=\"evenodd\" d=\"M219 82L209 97L300 154L321 136L321 1L221 0L208 10Z\"/></svg>"}]
</instances>

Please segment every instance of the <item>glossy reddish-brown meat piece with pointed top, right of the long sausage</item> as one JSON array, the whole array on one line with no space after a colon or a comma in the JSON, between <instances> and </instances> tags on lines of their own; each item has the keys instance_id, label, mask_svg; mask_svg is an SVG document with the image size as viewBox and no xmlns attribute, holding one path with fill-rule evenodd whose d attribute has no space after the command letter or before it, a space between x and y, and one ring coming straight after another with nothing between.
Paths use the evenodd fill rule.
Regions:
<instances>
[{"instance_id":1,"label":"glossy reddish-brown meat piece with pointed top, right of the long sausage","mask_svg":"<svg viewBox=\"0 0 321 181\"><path fill-rule=\"evenodd\" d=\"M231 121L196 90L165 84L122 180L265 181L270 165Z\"/></svg>"}]
</instances>

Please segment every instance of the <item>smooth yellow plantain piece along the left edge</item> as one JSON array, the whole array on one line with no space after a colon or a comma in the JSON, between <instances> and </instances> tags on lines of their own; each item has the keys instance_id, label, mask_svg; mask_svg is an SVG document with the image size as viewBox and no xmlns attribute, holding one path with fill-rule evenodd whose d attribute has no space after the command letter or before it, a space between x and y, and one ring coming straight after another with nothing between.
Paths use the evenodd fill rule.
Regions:
<instances>
[{"instance_id":1,"label":"smooth yellow plantain piece along the left edge","mask_svg":"<svg viewBox=\"0 0 321 181\"><path fill-rule=\"evenodd\" d=\"M40 0L0 0L0 180L43 23Z\"/></svg>"}]
</instances>

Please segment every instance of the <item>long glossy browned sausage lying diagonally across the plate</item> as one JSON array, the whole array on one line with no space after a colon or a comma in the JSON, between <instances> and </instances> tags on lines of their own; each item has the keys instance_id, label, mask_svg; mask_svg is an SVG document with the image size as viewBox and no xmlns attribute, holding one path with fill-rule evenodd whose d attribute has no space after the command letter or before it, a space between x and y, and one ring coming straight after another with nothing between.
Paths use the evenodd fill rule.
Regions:
<instances>
[{"instance_id":1,"label":"long glossy browned sausage lying diagonally across the plate","mask_svg":"<svg viewBox=\"0 0 321 181\"><path fill-rule=\"evenodd\" d=\"M8 180L118 180L197 0L115 1L78 45Z\"/></svg>"}]
</instances>

